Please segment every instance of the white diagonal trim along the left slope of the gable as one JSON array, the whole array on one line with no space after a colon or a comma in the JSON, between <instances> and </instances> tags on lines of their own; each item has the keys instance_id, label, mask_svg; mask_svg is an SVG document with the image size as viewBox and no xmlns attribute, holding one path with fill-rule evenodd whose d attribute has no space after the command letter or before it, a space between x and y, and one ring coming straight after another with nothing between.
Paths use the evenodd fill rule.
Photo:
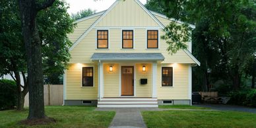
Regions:
<instances>
[{"instance_id":1,"label":"white diagonal trim along the left slope of the gable","mask_svg":"<svg viewBox=\"0 0 256 128\"><path fill-rule=\"evenodd\" d=\"M85 32L84 34L82 34L82 36L79 37L79 39L77 39L77 41L73 44L73 46L71 46L71 48L69 48L69 51L71 51L72 49L75 48L75 46L77 46L77 44L79 44L80 41L82 41L82 39L84 39L84 37L90 32L90 30L92 30L92 28L94 28L96 26L96 24L98 24L98 22L100 22L102 20L102 18L104 18L104 16L106 16L112 9L113 7L115 7L115 5L117 5L117 3L119 3L119 1L115 1L115 3L113 3L113 5L111 5L111 7L105 11L100 18L98 18Z\"/></svg>"}]
</instances>

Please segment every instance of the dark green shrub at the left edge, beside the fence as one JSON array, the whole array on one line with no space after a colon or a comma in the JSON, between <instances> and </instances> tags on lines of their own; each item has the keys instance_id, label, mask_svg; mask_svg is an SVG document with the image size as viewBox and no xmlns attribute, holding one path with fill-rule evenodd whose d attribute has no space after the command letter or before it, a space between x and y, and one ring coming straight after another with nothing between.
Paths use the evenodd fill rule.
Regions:
<instances>
[{"instance_id":1,"label":"dark green shrub at the left edge, beside the fence","mask_svg":"<svg viewBox=\"0 0 256 128\"><path fill-rule=\"evenodd\" d=\"M13 80L0 80L0 110L11 109L16 105L16 83Z\"/></svg>"}]
</instances>

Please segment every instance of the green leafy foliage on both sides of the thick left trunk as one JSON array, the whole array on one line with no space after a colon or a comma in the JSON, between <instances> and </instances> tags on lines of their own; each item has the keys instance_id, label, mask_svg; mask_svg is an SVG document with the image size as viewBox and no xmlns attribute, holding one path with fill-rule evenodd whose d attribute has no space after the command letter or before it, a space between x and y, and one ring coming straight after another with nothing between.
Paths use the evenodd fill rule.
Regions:
<instances>
[{"instance_id":1,"label":"green leafy foliage on both sides of the thick left trunk","mask_svg":"<svg viewBox=\"0 0 256 128\"><path fill-rule=\"evenodd\" d=\"M11 74L18 89L18 109L22 110L24 96L28 92L27 60L22 38L21 21L16 1L0 1L0 75ZM42 46L42 62L44 75L51 83L59 82L69 61L71 42L67 33L73 31L73 20L67 14L67 5L63 1L55 1L52 7L40 11L37 16L37 27ZM22 74L22 77L20 76ZM57 76L57 77L56 77ZM24 79L24 84L20 82Z\"/></svg>"}]
</instances>

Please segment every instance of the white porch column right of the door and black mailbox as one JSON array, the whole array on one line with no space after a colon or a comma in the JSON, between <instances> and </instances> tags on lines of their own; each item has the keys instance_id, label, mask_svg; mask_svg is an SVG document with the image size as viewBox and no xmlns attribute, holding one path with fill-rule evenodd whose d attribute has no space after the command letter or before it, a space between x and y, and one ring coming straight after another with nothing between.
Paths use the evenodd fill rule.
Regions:
<instances>
[{"instance_id":1,"label":"white porch column right of the door and black mailbox","mask_svg":"<svg viewBox=\"0 0 256 128\"><path fill-rule=\"evenodd\" d=\"M157 63L152 63L152 98L157 98L157 88L156 88L156 79L157 79Z\"/></svg>"}]
</instances>

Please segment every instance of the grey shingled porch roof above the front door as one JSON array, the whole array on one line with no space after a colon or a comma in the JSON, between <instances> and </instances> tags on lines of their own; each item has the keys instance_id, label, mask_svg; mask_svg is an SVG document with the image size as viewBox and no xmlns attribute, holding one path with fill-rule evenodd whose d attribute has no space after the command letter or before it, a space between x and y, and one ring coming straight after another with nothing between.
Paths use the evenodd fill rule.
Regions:
<instances>
[{"instance_id":1,"label":"grey shingled porch roof above the front door","mask_svg":"<svg viewBox=\"0 0 256 128\"><path fill-rule=\"evenodd\" d=\"M164 61L162 53L94 53L91 57L92 61Z\"/></svg>"}]
</instances>

